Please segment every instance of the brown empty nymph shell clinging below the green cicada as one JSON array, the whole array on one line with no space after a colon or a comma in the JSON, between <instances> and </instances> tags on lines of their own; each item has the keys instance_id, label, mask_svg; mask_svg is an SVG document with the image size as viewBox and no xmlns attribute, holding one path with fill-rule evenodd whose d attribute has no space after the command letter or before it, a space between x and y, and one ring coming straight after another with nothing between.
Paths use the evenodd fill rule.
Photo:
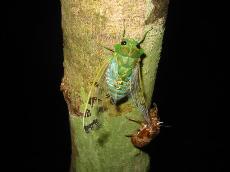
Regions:
<instances>
[{"instance_id":1,"label":"brown empty nymph shell clinging below the green cicada","mask_svg":"<svg viewBox=\"0 0 230 172\"><path fill-rule=\"evenodd\" d=\"M154 139L160 132L160 122L157 116L157 107L154 107L149 111L149 118L149 123L146 121L138 122L129 119L141 124L141 128L138 130L138 132L131 135L131 142L138 148L148 145L151 140Z\"/></svg>"}]
</instances>

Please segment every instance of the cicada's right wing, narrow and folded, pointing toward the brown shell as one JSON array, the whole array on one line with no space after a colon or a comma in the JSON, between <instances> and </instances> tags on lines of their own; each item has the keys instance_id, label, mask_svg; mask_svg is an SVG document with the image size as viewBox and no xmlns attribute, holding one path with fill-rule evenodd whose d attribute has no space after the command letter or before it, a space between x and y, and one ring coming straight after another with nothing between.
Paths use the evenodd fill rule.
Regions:
<instances>
[{"instance_id":1,"label":"cicada's right wing, narrow and folded, pointing toward the brown shell","mask_svg":"<svg viewBox=\"0 0 230 172\"><path fill-rule=\"evenodd\" d=\"M149 110L145 99L144 88L142 84L140 64L137 64L133 70L130 83L130 96L134 105L143 114L146 122L150 122Z\"/></svg>"}]
</instances>

